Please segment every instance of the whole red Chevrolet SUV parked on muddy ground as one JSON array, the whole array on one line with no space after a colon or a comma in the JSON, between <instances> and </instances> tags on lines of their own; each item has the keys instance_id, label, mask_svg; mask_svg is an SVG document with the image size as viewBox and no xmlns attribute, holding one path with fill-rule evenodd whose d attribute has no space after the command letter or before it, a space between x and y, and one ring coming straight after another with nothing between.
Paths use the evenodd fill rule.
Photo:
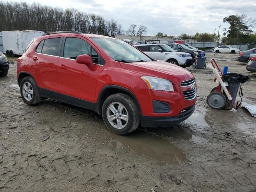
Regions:
<instances>
[{"instance_id":1,"label":"whole red Chevrolet SUV parked on muddy ground","mask_svg":"<svg viewBox=\"0 0 256 192\"><path fill-rule=\"evenodd\" d=\"M18 59L17 79L28 105L52 98L101 114L116 134L172 126L195 109L194 76L102 35L50 32Z\"/></svg>"}]
</instances>

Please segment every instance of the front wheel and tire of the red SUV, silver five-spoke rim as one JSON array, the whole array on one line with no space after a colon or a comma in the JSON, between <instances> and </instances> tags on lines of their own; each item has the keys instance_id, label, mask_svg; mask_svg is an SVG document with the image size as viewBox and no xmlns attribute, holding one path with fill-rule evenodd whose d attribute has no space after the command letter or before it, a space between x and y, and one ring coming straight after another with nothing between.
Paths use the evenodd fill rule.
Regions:
<instances>
[{"instance_id":1,"label":"front wheel and tire of the red SUV, silver five-spoke rim","mask_svg":"<svg viewBox=\"0 0 256 192\"><path fill-rule=\"evenodd\" d=\"M113 106L114 108L112 108ZM120 106L123 106L122 111L118 110ZM116 115L118 112L119 117ZM102 106L102 118L110 131L120 135L133 132L140 124L139 113L134 100L129 95L123 93L113 94L106 98ZM112 120L108 120L110 118ZM127 118L128 121L124 120L124 118Z\"/></svg>"}]
</instances>

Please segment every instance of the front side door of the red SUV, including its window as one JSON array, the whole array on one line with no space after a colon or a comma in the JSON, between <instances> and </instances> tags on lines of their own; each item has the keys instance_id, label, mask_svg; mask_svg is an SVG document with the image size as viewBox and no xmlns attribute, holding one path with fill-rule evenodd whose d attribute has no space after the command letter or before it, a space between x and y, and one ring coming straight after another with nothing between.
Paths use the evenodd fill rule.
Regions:
<instances>
[{"instance_id":1,"label":"front side door of the red SUV, including its window","mask_svg":"<svg viewBox=\"0 0 256 192\"><path fill-rule=\"evenodd\" d=\"M78 106L93 108L100 68L99 51L80 36L66 37L62 44L64 46L62 45L57 70L60 99ZM76 63L76 57L82 54L92 57L93 66Z\"/></svg>"}]
</instances>

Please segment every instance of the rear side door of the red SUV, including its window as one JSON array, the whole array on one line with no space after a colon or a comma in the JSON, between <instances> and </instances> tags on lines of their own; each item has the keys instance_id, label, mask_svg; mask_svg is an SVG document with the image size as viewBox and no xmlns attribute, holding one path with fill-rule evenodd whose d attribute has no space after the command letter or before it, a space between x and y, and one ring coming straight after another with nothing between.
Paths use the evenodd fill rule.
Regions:
<instances>
[{"instance_id":1,"label":"rear side door of the red SUV, including its window","mask_svg":"<svg viewBox=\"0 0 256 192\"><path fill-rule=\"evenodd\" d=\"M32 55L36 83L42 94L58 98L57 63L60 55L62 36L46 38L36 47Z\"/></svg>"}]
</instances>

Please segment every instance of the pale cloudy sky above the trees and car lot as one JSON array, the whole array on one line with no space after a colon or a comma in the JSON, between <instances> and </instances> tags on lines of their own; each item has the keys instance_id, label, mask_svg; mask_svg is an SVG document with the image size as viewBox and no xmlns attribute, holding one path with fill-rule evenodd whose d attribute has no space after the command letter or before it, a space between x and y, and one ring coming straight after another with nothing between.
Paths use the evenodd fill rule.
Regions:
<instances>
[{"instance_id":1,"label":"pale cloudy sky above the trees and car lot","mask_svg":"<svg viewBox=\"0 0 256 192\"><path fill-rule=\"evenodd\" d=\"M256 0L14 0L39 2L48 6L77 8L95 13L107 20L115 19L127 30L130 24L145 25L147 35L163 32L168 35L196 32L213 33L220 27L220 34L229 24L224 17L247 14L256 19ZM254 32L256 29L253 29ZM218 34L218 31L217 31Z\"/></svg>"}]
</instances>

